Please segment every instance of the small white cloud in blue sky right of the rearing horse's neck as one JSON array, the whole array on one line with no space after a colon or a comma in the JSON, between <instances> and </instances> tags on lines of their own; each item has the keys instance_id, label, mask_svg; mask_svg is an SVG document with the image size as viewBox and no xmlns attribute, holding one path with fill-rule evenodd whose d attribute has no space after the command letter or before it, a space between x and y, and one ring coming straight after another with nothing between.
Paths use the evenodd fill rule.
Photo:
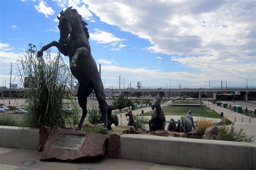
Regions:
<instances>
[{"instance_id":1,"label":"small white cloud in blue sky right of the rearing horse's neck","mask_svg":"<svg viewBox=\"0 0 256 170\"><path fill-rule=\"evenodd\" d=\"M117 38L112 33L106 31L100 31L99 29L95 29L94 33L90 33L90 38L93 41L97 41L98 43L111 43L124 41L125 39Z\"/></svg>"}]
</instances>

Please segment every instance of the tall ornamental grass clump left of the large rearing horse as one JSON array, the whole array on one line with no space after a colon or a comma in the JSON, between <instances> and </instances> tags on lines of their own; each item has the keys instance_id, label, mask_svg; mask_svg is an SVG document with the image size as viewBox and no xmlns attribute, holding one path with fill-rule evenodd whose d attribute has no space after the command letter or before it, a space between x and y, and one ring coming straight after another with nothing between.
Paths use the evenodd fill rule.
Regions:
<instances>
[{"instance_id":1,"label":"tall ornamental grass clump left of the large rearing horse","mask_svg":"<svg viewBox=\"0 0 256 170\"><path fill-rule=\"evenodd\" d=\"M28 114L22 124L33 128L43 125L74 128L78 109L69 88L71 73L62 55L58 52L51 56L48 51L38 58L28 51L20 56L17 66L18 77L28 88L24 95ZM65 111L64 101L71 105L72 111Z\"/></svg>"}]
</instances>

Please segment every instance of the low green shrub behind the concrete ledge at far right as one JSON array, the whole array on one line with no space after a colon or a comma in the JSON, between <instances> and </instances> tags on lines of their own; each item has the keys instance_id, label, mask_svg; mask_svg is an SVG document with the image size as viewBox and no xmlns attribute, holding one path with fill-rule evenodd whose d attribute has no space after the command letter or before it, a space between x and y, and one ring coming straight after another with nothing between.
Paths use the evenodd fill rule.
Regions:
<instances>
[{"instance_id":1,"label":"low green shrub behind the concrete ledge at far right","mask_svg":"<svg viewBox=\"0 0 256 170\"><path fill-rule=\"evenodd\" d=\"M234 125L231 128L228 126L221 125L219 126L219 134L217 140L228 140L228 141L244 141L244 142L253 142L252 137L247 137L243 129L235 130Z\"/></svg>"}]
</instances>

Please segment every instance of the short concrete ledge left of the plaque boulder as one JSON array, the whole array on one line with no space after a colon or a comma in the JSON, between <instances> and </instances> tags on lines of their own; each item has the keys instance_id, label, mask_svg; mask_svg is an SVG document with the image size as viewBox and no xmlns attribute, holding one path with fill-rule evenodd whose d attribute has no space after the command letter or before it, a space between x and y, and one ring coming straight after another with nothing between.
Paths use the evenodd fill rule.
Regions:
<instances>
[{"instance_id":1,"label":"short concrete ledge left of the plaque boulder","mask_svg":"<svg viewBox=\"0 0 256 170\"><path fill-rule=\"evenodd\" d=\"M0 126L0 146L37 150L39 129Z\"/></svg>"}]
</instances>

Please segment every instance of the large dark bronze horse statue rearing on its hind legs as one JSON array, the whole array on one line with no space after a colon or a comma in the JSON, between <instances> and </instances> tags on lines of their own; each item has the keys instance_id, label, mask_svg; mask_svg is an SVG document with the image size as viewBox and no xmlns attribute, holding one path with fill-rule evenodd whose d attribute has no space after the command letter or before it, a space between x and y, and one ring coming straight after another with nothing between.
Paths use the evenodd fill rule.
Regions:
<instances>
[{"instance_id":1,"label":"large dark bronze horse statue rearing on its hind legs","mask_svg":"<svg viewBox=\"0 0 256 170\"><path fill-rule=\"evenodd\" d=\"M104 131L106 134L108 129L111 129L109 118L107 117L107 104L104 96L104 87L100 78L95 60L91 54L89 44L89 33L82 16L78 14L72 6L64 12L60 12L59 20L59 41L52 41L48 45L42 47L38 51L37 56L42 56L43 51L52 46L56 46L60 53L69 56L70 70L73 76L79 82L78 88L78 103L83 109L83 115L78 124L78 130L82 129L84 119L87 114L87 97L95 91L99 108L104 119Z\"/></svg>"}]
</instances>

